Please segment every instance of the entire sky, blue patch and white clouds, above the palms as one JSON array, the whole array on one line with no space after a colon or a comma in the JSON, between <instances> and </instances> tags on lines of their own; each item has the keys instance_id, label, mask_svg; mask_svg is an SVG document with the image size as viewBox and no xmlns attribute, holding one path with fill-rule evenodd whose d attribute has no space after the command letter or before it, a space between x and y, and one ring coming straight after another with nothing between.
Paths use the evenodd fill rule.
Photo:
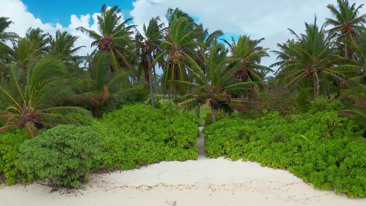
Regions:
<instances>
[{"instance_id":1,"label":"entire sky, blue patch and white clouds, above the palms","mask_svg":"<svg viewBox=\"0 0 366 206\"><path fill-rule=\"evenodd\" d=\"M210 32L221 29L224 38L238 38L247 34L253 38L265 38L262 47L270 51L277 50L277 43L284 43L293 38L287 28L296 33L303 33L305 22L312 23L314 14L321 25L325 18L332 18L326 8L328 4L336 4L336 0L0 0L0 16L9 17L14 22L8 31L25 35L29 27L40 27L45 32L55 33L57 29L79 36L76 46L86 46L80 55L93 51L91 39L76 27L84 26L97 30L96 18L101 6L106 3L112 7L118 5L122 10L123 19L133 18L131 24L138 25L141 30L143 23L148 23L153 16L160 16L165 21L165 12L169 7L179 7L197 20L197 23ZM365 0L350 0L360 5ZM363 8L361 13L366 13ZM264 58L261 62L269 66L276 62L276 56Z\"/></svg>"}]
</instances>

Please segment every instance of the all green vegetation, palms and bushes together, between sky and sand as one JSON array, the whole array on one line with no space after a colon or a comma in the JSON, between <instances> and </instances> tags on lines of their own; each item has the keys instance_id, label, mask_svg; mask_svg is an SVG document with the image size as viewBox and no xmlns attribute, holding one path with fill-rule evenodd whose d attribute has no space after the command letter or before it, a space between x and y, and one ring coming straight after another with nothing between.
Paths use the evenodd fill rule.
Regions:
<instances>
[{"instance_id":1,"label":"all green vegetation, palms and bushes together, between sky and sand","mask_svg":"<svg viewBox=\"0 0 366 206\"><path fill-rule=\"evenodd\" d=\"M0 179L78 187L93 169L197 159L204 123L209 156L258 161L363 197L362 7L337 0L324 24L315 15L277 48L247 34L227 39L179 8L137 29L104 4L97 30L77 28L93 40L82 47L60 30L16 34L19 22L0 17ZM81 55L83 47L93 51ZM268 56L276 62L264 65ZM48 144L61 162L38 161ZM81 148L82 158L70 153Z\"/></svg>"}]
</instances>

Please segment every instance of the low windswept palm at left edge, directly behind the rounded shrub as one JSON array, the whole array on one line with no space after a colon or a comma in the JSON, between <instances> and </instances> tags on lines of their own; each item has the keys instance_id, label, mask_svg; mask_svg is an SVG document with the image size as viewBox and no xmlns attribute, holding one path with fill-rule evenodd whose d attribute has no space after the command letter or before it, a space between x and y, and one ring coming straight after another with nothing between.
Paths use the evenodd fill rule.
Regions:
<instances>
[{"instance_id":1,"label":"low windswept palm at left edge, directly behind the rounded shrub","mask_svg":"<svg viewBox=\"0 0 366 206\"><path fill-rule=\"evenodd\" d=\"M31 60L21 70L11 66L8 80L1 79L0 102L7 108L0 110L0 118L4 121L0 130L25 127L34 136L43 127L78 124L66 116L70 113L90 115L81 107L59 106L60 97L73 95L69 87L71 82L62 78L64 65L61 61L43 58L34 62Z\"/></svg>"}]
</instances>

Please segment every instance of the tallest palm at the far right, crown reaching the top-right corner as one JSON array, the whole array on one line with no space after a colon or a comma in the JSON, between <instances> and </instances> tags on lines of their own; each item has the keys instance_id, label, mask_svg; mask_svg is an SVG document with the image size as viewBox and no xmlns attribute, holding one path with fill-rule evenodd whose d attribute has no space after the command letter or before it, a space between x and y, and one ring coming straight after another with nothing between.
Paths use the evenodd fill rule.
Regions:
<instances>
[{"instance_id":1,"label":"tallest palm at the far right, crown reaching the top-right corner","mask_svg":"<svg viewBox=\"0 0 366 206\"><path fill-rule=\"evenodd\" d=\"M328 4L326 7L335 19L326 18L324 26L334 26L329 29L330 33L341 34L345 40L348 40L348 38L354 40L355 31L362 23L366 23L366 14L358 16L360 14L359 10L362 9L364 4L359 5L357 8L355 3L350 5L348 0L337 0L337 4L339 10L333 4ZM352 58L352 52L347 43L344 43L344 57L346 59Z\"/></svg>"}]
</instances>

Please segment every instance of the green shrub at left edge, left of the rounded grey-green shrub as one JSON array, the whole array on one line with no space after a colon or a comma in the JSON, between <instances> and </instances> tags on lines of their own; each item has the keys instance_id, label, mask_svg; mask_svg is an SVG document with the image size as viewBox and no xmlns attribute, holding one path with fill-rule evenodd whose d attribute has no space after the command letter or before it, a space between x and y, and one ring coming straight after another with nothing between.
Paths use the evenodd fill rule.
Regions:
<instances>
[{"instance_id":1,"label":"green shrub at left edge, left of the rounded grey-green shrub","mask_svg":"<svg viewBox=\"0 0 366 206\"><path fill-rule=\"evenodd\" d=\"M18 181L25 183L29 180L29 177L15 166L20 145L29 139L31 137L24 128L0 132L0 183L2 175L6 184L14 184Z\"/></svg>"}]
</instances>

